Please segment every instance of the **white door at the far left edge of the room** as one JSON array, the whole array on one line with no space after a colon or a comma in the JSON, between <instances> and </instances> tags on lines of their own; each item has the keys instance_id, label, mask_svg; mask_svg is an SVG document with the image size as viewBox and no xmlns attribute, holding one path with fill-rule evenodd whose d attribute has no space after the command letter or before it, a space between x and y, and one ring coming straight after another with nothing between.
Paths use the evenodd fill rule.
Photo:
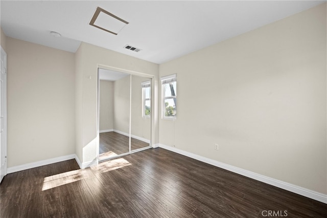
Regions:
<instances>
[{"instance_id":1,"label":"white door at the far left edge of the room","mask_svg":"<svg viewBox=\"0 0 327 218\"><path fill-rule=\"evenodd\" d=\"M7 174L7 54L1 47L0 65L0 181Z\"/></svg>"}]
</instances>

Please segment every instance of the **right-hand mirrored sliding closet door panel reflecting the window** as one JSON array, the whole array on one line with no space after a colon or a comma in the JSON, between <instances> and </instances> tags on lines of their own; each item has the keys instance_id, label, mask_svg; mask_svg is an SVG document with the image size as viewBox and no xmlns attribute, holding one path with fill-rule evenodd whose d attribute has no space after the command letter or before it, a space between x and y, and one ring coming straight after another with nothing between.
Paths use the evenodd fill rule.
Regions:
<instances>
[{"instance_id":1,"label":"right-hand mirrored sliding closet door panel reflecting the window","mask_svg":"<svg viewBox=\"0 0 327 218\"><path fill-rule=\"evenodd\" d=\"M131 76L131 150L150 146L151 79Z\"/></svg>"}]
</instances>

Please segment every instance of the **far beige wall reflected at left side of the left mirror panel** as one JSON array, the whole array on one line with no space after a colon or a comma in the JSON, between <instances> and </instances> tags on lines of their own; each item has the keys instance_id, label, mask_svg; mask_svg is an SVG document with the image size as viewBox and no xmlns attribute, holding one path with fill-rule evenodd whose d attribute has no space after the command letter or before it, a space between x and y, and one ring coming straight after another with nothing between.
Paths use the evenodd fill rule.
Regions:
<instances>
[{"instance_id":1,"label":"far beige wall reflected at left side of the left mirror panel","mask_svg":"<svg viewBox=\"0 0 327 218\"><path fill-rule=\"evenodd\" d=\"M113 82L100 80L99 130L113 129Z\"/></svg>"}]
</instances>

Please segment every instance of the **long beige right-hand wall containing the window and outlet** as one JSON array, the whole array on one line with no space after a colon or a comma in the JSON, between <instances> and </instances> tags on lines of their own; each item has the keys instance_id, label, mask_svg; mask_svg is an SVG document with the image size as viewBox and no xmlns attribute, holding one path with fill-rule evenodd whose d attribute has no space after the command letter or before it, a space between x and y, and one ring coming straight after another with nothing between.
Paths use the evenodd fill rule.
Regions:
<instances>
[{"instance_id":1,"label":"long beige right-hand wall containing the window and outlet","mask_svg":"<svg viewBox=\"0 0 327 218\"><path fill-rule=\"evenodd\" d=\"M160 64L174 73L161 144L327 193L326 4Z\"/></svg>"}]
</instances>

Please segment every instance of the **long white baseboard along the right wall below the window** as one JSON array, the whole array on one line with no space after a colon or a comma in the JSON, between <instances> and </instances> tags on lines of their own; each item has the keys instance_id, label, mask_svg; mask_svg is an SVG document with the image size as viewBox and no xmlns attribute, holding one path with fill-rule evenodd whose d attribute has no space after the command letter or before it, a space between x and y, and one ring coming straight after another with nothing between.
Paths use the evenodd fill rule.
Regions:
<instances>
[{"instance_id":1,"label":"long white baseboard along the right wall below the window","mask_svg":"<svg viewBox=\"0 0 327 218\"><path fill-rule=\"evenodd\" d=\"M242 176L245 176L245 177L248 177L248 178L251 178L251 179L254 179L254 180L258 180L260 182L267 183L269 185L273 185L273 186L276 186L278 188L282 188L282 189L294 192L296 194L300 194L300 195L305 196L307 198L310 198L310 199L313 199L313 200L316 200L316 201L327 204L327 194L319 193L317 191L313 191L313 190L310 190L310 189L307 189L307 188L303 188L303 187L300 187L300 186L297 186L297 185L293 185L293 184L290 184L290 183L287 183L287 182L284 182L284 181L281 181L281 180L276 180L276 179L273 179L273 178L270 178L270 177L266 177L266 176L260 175L258 173L255 173L255 172L251 172L249 170L245 170L245 169L242 169L242 168L239 168L239 167L231 166L229 164L225 164L225 163L222 163L222 162L219 162L219 161L215 161L215 160L212 160L212 159L209 159L209 158L205 158L205 157L202 157L202 156L199 156L199 155L195 155L195 154L193 154L191 152L184 151L184 150L181 150L181 149L178 149L178 148L175 148L175 147L167 146L167 145L164 145L164 144L155 144L155 145L157 147L161 147L161 148L176 152L177 154L184 155L186 157L190 157L190 158L193 158L195 160L198 160L198 161L201 161L201 162L204 162L204 163L207 163L207 164L211 164L211 165L214 165L214 166L229 170L231 172L238 173L238 174L240 174Z\"/></svg>"}]
</instances>

